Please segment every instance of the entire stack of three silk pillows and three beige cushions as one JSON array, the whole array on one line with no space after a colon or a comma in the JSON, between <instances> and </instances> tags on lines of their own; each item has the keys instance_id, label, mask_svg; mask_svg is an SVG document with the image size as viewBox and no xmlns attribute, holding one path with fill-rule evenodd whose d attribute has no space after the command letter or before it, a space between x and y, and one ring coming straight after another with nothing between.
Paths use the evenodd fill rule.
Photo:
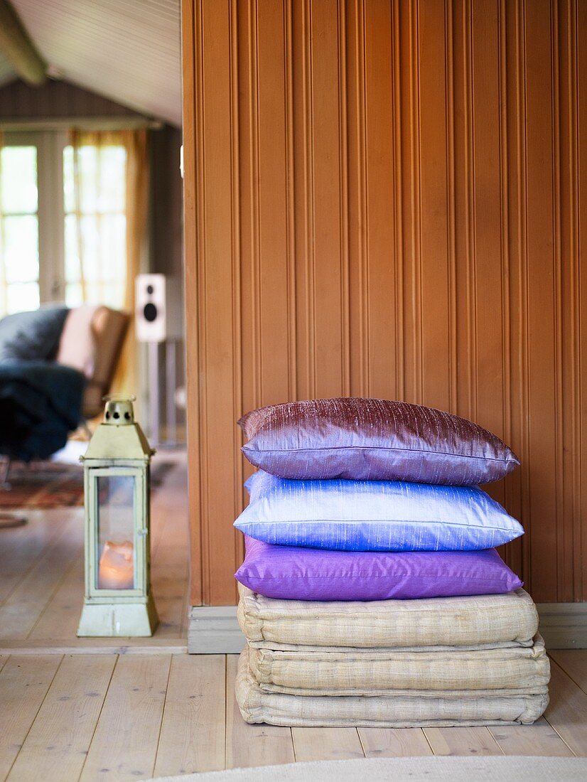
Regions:
<instances>
[{"instance_id":1,"label":"entire stack of three silk pillows and three beige cushions","mask_svg":"<svg viewBox=\"0 0 587 782\"><path fill-rule=\"evenodd\" d=\"M538 617L496 546L523 534L478 483L519 462L428 407L370 399L239 421L246 482L237 699L291 726L532 723L548 703Z\"/></svg>"}]
</instances>

